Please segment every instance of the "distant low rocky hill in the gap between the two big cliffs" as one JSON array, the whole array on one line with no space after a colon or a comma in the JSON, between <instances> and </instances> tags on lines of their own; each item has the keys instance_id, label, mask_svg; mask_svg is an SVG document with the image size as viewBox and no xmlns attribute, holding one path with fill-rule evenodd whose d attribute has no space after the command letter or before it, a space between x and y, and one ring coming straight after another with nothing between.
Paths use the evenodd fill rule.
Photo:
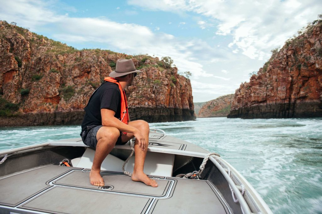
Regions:
<instances>
[{"instance_id":1,"label":"distant low rocky hill in the gap between the two big cliffs","mask_svg":"<svg viewBox=\"0 0 322 214\"><path fill-rule=\"evenodd\" d=\"M234 94L229 94L206 102L199 110L198 117L226 117L233 99Z\"/></svg>"}]
</instances>

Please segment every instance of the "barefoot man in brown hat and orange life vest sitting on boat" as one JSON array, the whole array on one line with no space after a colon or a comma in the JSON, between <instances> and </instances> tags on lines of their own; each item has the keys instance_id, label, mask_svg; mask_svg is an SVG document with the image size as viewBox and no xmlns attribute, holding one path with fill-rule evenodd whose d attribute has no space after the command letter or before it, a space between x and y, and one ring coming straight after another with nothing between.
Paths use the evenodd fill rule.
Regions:
<instances>
[{"instance_id":1,"label":"barefoot man in brown hat and orange life vest sitting on boat","mask_svg":"<svg viewBox=\"0 0 322 214\"><path fill-rule=\"evenodd\" d=\"M90 170L92 185L104 186L104 180L100 175L103 160L115 144L125 144L133 137L136 140L132 180L153 187L158 185L143 172L149 140L149 124L143 120L129 121L128 116L125 89L132 85L137 73L142 71L135 69L132 59L118 59L115 71L104 79L84 108L81 137L84 144L96 148Z\"/></svg>"}]
</instances>

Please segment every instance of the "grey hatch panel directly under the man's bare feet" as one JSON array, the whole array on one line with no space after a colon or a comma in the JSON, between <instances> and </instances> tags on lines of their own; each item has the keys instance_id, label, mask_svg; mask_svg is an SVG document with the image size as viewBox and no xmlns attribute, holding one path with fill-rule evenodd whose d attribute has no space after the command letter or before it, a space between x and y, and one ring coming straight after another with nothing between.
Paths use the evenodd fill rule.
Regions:
<instances>
[{"instance_id":1,"label":"grey hatch panel directly under the man's bare feet","mask_svg":"<svg viewBox=\"0 0 322 214\"><path fill-rule=\"evenodd\" d=\"M129 193L146 195L153 197L163 197L166 195L170 185L169 180L158 180L158 187L150 187L141 182L133 182L128 175L116 175L110 173L101 173L105 186L111 186L108 192ZM101 189L99 186L90 184L89 172L73 171L53 182L57 185L76 186L86 189Z\"/></svg>"}]
</instances>

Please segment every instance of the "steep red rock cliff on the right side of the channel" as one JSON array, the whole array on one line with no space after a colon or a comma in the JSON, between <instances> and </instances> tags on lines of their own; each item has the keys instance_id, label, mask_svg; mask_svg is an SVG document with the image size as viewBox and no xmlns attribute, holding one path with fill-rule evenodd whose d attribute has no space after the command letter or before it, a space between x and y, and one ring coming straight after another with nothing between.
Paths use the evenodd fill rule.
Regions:
<instances>
[{"instance_id":1,"label":"steep red rock cliff on the right side of the channel","mask_svg":"<svg viewBox=\"0 0 322 214\"><path fill-rule=\"evenodd\" d=\"M322 116L322 22L286 41L279 52L236 90L235 118Z\"/></svg>"}]
</instances>

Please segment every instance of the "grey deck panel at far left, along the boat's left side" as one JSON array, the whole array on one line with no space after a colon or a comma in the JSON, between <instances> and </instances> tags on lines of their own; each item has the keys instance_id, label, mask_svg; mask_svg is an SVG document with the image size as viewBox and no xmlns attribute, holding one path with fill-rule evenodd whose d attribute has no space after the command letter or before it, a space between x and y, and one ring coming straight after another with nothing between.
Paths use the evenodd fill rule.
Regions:
<instances>
[{"instance_id":1,"label":"grey deck panel at far left, along the boat's left side","mask_svg":"<svg viewBox=\"0 0 322 214\"><path fill-rule=\"evenodd\" d=\"M0 204L16 206L49 185L47 181L71 170L71 167L46 166L5 177L0 180Z\"/></svg>"}]
</instances>

